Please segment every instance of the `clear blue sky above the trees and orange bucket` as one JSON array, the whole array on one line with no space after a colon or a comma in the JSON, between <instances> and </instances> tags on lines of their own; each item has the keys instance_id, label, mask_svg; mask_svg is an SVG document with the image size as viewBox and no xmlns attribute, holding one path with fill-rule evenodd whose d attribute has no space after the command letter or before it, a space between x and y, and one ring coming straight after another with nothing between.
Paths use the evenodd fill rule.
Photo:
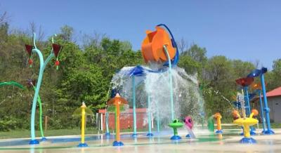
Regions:
<instances>
[{"instance_id":1,"label":"clear blue sky above the trees and orange bucket","mask_svg":"<svg viewBox=\"0 0 281 153\"><path fill-rule=\"evenodd\" d=\"M105 33L141 48L146 29L165 23L176 39L207 48L207 56L226 55L270 68L281 58L281 1L256 0L48 0L0 1L11 27L41 25L47 36L63 25L76 32Z\"/></svg>"}]
</instances>

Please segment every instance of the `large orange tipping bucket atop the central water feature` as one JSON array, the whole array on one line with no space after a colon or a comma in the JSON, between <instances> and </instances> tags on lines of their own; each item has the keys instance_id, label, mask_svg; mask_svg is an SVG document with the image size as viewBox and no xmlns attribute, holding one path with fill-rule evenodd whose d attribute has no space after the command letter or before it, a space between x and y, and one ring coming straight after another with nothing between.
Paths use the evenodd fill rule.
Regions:
<instances>
[{"instance_id":1,"label":"large orange tipping bucket atop the central water feature","mask_svg":"<svg viewBox=\"0 0 281 153\"><path fill-rule=\"evenodd\" d=\"M156 27L156 31L146 31L147 36L141 45L141 53L145 62L166 62L168 57L163 46L166 45L169 56L173 59L176 55L176 48L173 47L169 34L162 27Z\"/></svg>"}]
</instances>

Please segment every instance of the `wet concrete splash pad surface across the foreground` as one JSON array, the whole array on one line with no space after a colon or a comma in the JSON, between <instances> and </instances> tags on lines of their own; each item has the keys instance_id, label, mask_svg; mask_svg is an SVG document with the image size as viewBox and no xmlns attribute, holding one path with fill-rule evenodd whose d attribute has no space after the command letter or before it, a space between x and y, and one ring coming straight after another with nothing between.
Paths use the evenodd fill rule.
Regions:
<instances>
[{"instance_id":1,"label":"wet concrete splash pad surface across the foreground","mask_svg":"<svg viewBox=\"0 0 281 153\"><path fill-rule=\"evenodd\" d=\"M186 139L171 141L171 135L155 135L147 138L140 133L137 139L129 134L122 135L124 147L112 147L114 139L101 135L87 135L89 147L79 148L77 136L53 137L40 145L25 145L27 139L1 140L0 152L281 152L281 129L274 129L275 135L256 135L257 144L240 144L241 130L225 130L223 135L195 133L194 140ZM27 142L27 143L26 143Z\"/></svg>"}]
</instances>

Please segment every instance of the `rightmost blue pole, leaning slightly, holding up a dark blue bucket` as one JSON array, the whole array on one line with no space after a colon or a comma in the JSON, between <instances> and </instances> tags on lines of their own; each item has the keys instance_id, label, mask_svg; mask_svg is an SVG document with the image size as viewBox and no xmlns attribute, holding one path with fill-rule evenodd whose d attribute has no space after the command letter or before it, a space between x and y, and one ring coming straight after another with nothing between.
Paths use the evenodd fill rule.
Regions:
<instances>
[{"instance_id":1,"label":"rightmost blue pole, leaning slightly, holding up a dark blue bucket","mask_svg":"<svg viewBox=\"0 0 281 153\"><path fill-rule=\"evenodd\" d=\"M269 112L270 109L268 107L268 99L266 97L266 84L264 82L264 74L261 74L261 87L263 91L263 102L264 102L264 111L266 112L266 124L268 129L265 131L265 134L271 135L274 134L274 132L270 128L270 117L269 117Z\"/></svg>"}]
</instances>

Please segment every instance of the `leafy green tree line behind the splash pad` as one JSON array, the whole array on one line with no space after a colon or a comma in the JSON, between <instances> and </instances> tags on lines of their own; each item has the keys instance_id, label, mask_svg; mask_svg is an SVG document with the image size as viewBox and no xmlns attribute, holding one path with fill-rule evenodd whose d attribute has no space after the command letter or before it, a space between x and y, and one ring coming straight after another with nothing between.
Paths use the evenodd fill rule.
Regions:
<instances>
[{"instance_id":1,"label":"leafy green tree line behind the splash pad","mask_svg":"<svg viewBox=\"0 0 281 153\"><path fill-rule=\"evenodd\" d=\"M34 64L30 68L24 48L25 44L32 44L31 34L36 31L36 26L31 29L30 32L9 29L8 22L0 18L0 82L18 81L26 85L27 79L37 79L39 59L34 55ZM43 37L44 32L41 32L37 48L46 58L51 51L51 37L46 40ZM105 34L86 34L84 41L77 43L74 29L67 25L60 27L55 43L63 46L59 56L60 67L55 69L55 60L47 65L40 90L44 116L50 118L50 128L78 127L79 122L72 118L72 112L82 101L96 111L104 108L113 74L124 66L144 64L141 51L133 51L129 41L110 39ZM184 41L178 41L178 46L181 49L178 67L184 68L188 74L197 75L203 86L207 116L215 112L221 112L226 118L230 116L230 102L237 92L235 79L246 76L260 65L230 60L223 55L208 58L207 48L197 44L187 47ZM280 76L281 59L277 59L266 74L268 91L281 86ZM28 88L0 88L0 131L30 128L33 94L34 91Z\"/></svg>"}]
</instances>

